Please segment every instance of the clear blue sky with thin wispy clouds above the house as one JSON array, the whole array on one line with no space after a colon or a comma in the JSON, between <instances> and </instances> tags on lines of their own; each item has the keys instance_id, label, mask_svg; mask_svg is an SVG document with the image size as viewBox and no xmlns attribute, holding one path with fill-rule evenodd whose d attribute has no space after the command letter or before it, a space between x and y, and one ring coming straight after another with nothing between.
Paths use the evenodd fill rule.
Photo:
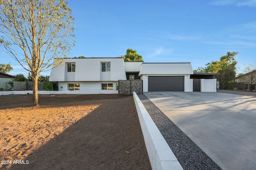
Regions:
<instances>
[{"instance_id":1,"label":"clear blue sky with thin wispy clouds above the house","mask_svg":"<svg viewBox=\"0 0 256 170\"><path fill-rule=\"evenodd\" d=\"M244 63L256 64L256 0L68 0L68 6L76 34L69 57L118 57L131 48L144 62L191 62L196 70L235 51L237 73ZM14 68L9 74L28 75L2 54L0 63Z\"/></svg>"}]
</instances>

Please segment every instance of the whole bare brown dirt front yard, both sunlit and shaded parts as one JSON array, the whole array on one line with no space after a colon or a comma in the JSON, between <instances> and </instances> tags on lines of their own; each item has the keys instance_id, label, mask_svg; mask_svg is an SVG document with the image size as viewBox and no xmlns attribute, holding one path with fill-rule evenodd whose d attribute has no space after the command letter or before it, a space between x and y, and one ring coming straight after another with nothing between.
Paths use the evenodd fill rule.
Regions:
<instances>
[{"instance_id":1,"label":"whole bare brown dirt front yard, both sunlit and shaded parts","mask_svg":"<svg viewBox=\"0 0 256 170\"><path fill-rule=\"evenodd\" d=\"M0 96L0 169L151 169L132 96Z\"/></svg>"}]
</instances>

